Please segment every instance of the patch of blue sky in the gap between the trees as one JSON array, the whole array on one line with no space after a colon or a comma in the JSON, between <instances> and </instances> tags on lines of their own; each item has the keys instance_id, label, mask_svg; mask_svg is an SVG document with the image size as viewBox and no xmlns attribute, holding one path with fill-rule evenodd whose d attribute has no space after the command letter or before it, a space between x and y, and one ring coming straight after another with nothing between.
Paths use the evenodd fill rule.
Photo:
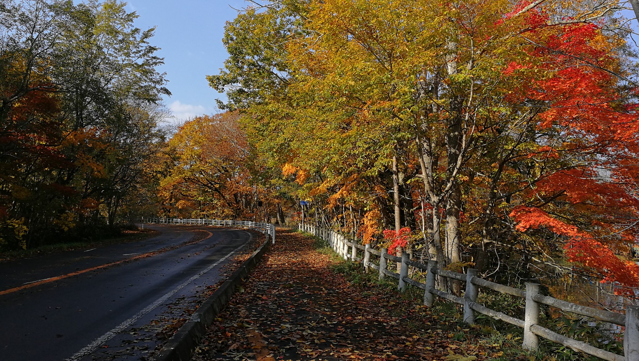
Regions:
<instances>
[{"instance_id":1,"label":"patch of blue sky in the gap between the trees","mask_svg":"<svg viewBox=\"0 0 639 361\"><path fill-rule=\"evenodd\" d=\"M244 0L130 0L127 10L139 18L135 26L157 26L151 44L161 47L164 58L160 72L167 73L167 88L173 95L165 97L176 122L190 116L217 111L215 99L226 99L208 86L206 76L218 74L227 58L222 45L224 23L235 19L237 11L247 5ZM231 8L232 7L232 8Z\"/></svg>"}]
</instances>

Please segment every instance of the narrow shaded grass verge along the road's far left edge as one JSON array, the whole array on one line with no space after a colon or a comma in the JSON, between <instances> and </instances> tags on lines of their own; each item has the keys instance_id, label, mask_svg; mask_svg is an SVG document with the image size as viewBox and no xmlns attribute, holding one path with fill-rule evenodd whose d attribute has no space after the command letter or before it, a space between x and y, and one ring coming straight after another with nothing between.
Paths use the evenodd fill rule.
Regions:
<instances>
[{"instance_id":1,"label":"narrow shaded grass verge along the road's far left edge","mask_svg":"<svg viewBox=\"0 0 639 361\"><path fill-rule=\"evenodd\" d=\"M53 245L43 245L35 248L29 248L27 250L12 250L0 252L0 261L10 261L12 259L34 257L36 255L48 255L66 251L75 251L84 248L114 245L116 243L130 243L156 236L158 233L159 232L157 232L156 230L151 229L123 230L122 234L116 237L92 239L89 241L55 243Z\"/></svg>"}]
</instances>

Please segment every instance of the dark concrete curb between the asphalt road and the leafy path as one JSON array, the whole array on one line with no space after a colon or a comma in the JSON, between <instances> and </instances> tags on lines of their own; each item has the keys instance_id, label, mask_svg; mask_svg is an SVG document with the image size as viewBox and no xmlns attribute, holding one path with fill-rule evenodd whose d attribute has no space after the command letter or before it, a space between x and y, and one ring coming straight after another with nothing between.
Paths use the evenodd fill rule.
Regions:
<instances>
[{"instance_id":1,"label":"dark concrete curb between the asphalt road and the leafy path","mask_svg":"<svg viewBox=\"0 0 639 361\"><path fill-rule=\"evenodd\" d=\"M249 272L262 259L264 253L270 245L268 239L253 252L249 259L242 263L240 268L229 276L229 278L215 292L200 305L191 315L190 320L182 325L169 341L164 344L160 353L152 358L153 361L188 361L191 353L197 347L198 342L204 335L206 328L213 323L215 316L220 313L226 303L231 299L237 286L245 280Z\"/></svg>"}]
</instances>

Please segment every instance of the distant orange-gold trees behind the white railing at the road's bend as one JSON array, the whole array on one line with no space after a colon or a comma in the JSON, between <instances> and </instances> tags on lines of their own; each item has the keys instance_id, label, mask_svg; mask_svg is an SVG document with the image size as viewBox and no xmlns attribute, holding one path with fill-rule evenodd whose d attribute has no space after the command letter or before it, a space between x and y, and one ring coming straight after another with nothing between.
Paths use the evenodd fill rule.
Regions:
<instances>
[{"instance_id":1,"label":"distant orange-gold trees behind the white railing at the road's bend","mask_svg":"<svg viewBox=\"0 0 639 361\"><path fill-rule=\"evenodd\" d=\"M162 216L284 222L281 197L261 175L239 120L237 112L196 116L168 141Z\"/></svg>"}]
</instances>

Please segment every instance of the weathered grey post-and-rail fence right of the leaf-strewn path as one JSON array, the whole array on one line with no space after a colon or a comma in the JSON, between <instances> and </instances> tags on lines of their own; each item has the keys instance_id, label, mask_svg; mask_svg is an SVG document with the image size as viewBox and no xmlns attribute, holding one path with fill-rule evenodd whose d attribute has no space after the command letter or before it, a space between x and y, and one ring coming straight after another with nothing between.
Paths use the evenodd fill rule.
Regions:
<instances>
[{"instance_id":1,"label":"weathered grey post-and-rail fence right of the leaf-strewn path","mask_svg":"<svg viewBox=\"0 0 639 361\"><path fill-rule=\"evenodd\" d=\"M500 319L505 323L523 328L523 348L525 349L537 349L539 346L539 337L562 344L567 348L571 348L574 351L586 353L587 355L596 356L608 361L639 361L639 306L628 305L626 307L626 315L618 314L616 312L610 312L608 310L599 310L592 307L586 307L577 305L575 303L558 300L550 296L543 296L539 293L540 285L534 283L527 283L526 289L518 289L509 287L507 285L496 284L489 280L477 277L477 269L468 269L464 273L456 273L447 271L445 269L437 268L437 261L428 261L428 264L411 261L408 253L403 253L401 257L390 255L387 253L386 248L381 250L374 250L369 245L358 245L357 240L350 240L339 232L333 230L316 227L314 225L302 224L299 225L300 230L314 234L314 236L320 237L328 242L333 250L341 255L345 260L361 261L362 265L367 272L370 269L376 269L379 272L380 280L385 277L392 277L398 280L397 289L405 291L407 285L413 285L424 290L424 305L429 307L433 306L435 296L449 300L454 303L463 305L464 322L468 324L475 323L475 312L479 312L486 316L493 317L494 319ZM362 257L358 257L362 252ZM371 262L371 256L377 256L380 258L379 265ZM399 273L391 271L387 268L387 261L401 262L401 270ZM426 283L423 284L412 278L408 277L408 268L412 266L415 268L427 271ZM466 282L466 289L463 297L455 296L454 294L445 293L436 289L435 281L436 275L452 278L461 282ZM500 293L511 294L525 298L526 308L524 313L524 319L517 319L515 317L508 316L502 312L491 310L480 303L477 303L477 295L479 294L479 287L484 287L497 291ZM592 317L598 321L604 321L613 323L619 326L625 326L626 331L624 333L624 355L617 355L610 351L596 348L586 342L577 341L571 339L559 333L548 330L539 325L539 305L549 305L555 307L564 312L571 312L581 316Z\"/></svg>"}]
</instances>

